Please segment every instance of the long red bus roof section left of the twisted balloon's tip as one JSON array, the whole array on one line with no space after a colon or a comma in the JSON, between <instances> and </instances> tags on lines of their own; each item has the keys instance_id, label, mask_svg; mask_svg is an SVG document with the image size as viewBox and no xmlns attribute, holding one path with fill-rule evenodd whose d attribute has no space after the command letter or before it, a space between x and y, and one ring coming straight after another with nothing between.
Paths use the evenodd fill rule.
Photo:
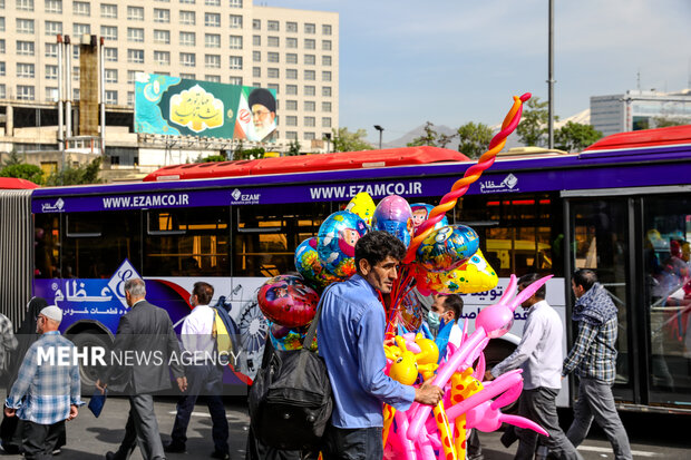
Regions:
<instances>
[{"instance_id":1,"label":"long red bus roof section left of the twisted balloon's tip","mask_svg":"<svg viewBox=\"0 0 691 460\"><path fill-rule=\"evenodd\" d=\"M437 162L466 162L468 159L469 158L460 151L447 148L428 146L402 147L385 150L340 151L337 154L173 165L155 170L146 176L144 180L183 180L315 170L376 168L385 166L422 165Z\"/></svg>"}]
</instances>

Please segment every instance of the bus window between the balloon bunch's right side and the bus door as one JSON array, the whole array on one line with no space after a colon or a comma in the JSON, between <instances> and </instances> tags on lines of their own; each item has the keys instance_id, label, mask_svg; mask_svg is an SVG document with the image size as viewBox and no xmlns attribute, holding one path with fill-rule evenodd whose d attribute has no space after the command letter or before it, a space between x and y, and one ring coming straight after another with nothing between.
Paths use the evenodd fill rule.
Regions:
<instances>
[{"instance_id":1,"label":"bus window between the balloon bunch's right side and the bus door","mask_svg":"<svg viewBox=\"0 0 691 460\"><path fill-rule=\"evenodd\" d=\"M548 194L464 196L456 222L480 236L485 258L502 277L531 272L563 275L558 256L562 208ZM556 258L556 260L555 260Z\"/></svg>"}]
</instances>

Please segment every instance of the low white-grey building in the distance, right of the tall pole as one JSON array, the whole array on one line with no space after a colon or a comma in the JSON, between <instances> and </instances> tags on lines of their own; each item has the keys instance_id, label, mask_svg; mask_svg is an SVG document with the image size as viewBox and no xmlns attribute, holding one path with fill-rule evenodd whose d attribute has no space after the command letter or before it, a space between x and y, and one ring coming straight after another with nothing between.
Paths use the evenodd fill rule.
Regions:
<instances>
[{"instance_id":1,"label":"low white-grey building in the distance, right of the tall pole","mask_svg":"<svg viewBox=\"0 0 691 460\"><path fill-rule=\"evenodd\" d=\"M604 136L655 128L663 120L691 123L691 89L591 97L591 125Z\"/></svg>"}]
</instances>

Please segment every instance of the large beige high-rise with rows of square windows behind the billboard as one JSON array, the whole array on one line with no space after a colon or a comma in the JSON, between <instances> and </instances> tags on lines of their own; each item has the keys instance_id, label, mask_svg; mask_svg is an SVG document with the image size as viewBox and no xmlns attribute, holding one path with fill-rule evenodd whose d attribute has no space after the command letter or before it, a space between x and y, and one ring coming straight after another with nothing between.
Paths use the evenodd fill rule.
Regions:
<instances>
[{"instance_id":1,"label":"large beige high-rise with rows of square windows behind the billboard","mask_svg":"<svg viewBox=\"0 0 691 460\"><path fill-rule=\"evenodd\" d=\"M274 88L275 138L299 140L305 150L339 125L335 12L251 0L0 0L0 107L55 108L57 35L77 45L89 35L105 40L108 114L132 114L135 74L145 71ZM70 58L76 101L79 46Z\"/></svg>"}]
</instances>

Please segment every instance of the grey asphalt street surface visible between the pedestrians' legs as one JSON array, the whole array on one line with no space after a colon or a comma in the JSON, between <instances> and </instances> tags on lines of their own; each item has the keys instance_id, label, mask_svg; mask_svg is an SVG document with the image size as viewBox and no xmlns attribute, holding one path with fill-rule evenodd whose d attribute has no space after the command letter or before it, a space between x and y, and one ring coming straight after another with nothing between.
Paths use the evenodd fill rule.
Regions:
<instances>
[{"instance_id":1,"label":"grey asphalt street surface visible between the pedestrians' legs","mask_svg":"<svg viewBox=\"0 0 691 460\"><path fill-rule=\"evenodd\" d=\"M87 399L88 400L88 399ZM156 417L164 443L175 419L174 398L156 399ZM241 398L227 398L226 411L230 423L230 444L233 459L245 457L245 440L250 418L246 404ZM67 446L58 459L101 460L109 450L116 450L125 433L125 422L129 411L126 398L108 398L104 411L96 419L82 407L79 417L67 423ZM568 422L568 412L562 413L562 422ZM669 415L651 413L623 413L622 419L629 431L634 459L658 458L664 460L691 459L691 415ZM187 430L187 453L171 453L168 460L192 460L210 458L213 451L211 440L211 417L206 404L198 402L192 414ZM499 442L499 432L480 433L486 460L513 459L517 444L506 449ZM578 451L585 460L613 459L612 449L603 433L594 428ZM1 459L21 459L20 456L2 456ZM138 450L132 460L142 460Z\"/></svg>"}]
</instances>

